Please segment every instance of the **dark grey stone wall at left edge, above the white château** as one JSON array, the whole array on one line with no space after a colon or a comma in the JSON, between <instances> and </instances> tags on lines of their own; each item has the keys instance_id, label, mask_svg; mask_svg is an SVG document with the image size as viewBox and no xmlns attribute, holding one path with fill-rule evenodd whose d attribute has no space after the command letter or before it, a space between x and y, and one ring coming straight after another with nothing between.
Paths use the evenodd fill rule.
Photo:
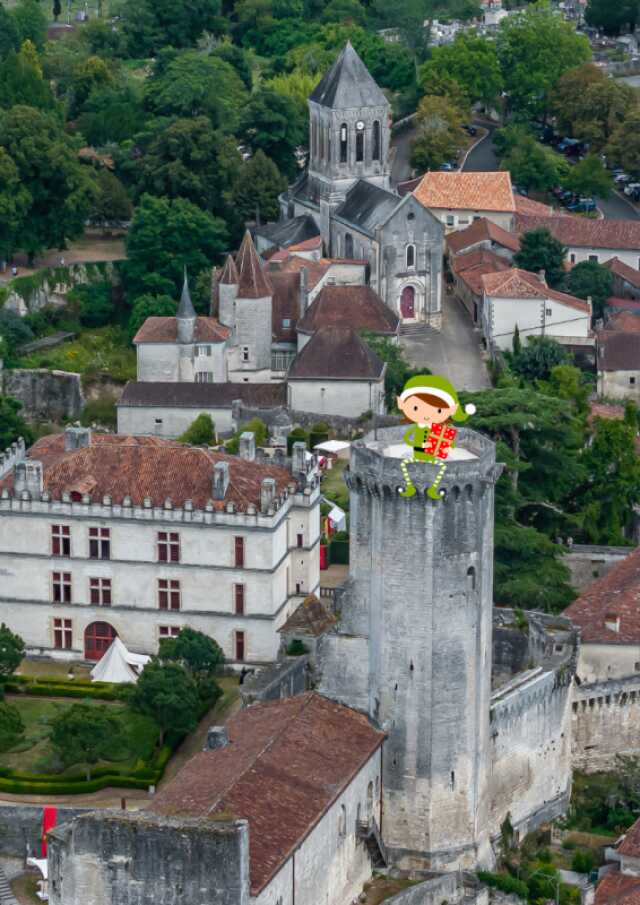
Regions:
<instances>
[{"instance_id":1,"label":"dark grey stone wall at left edge, above the white ch\u00e2teau","mask_svg":"<svg viewBox=\"0 0 640 905\"><path fill-rule=\"evenodd\" d=\"M0 371L0 388L21 402L23 415L35 421L78 418L84 405L80 375L68 371Z\"/></svg>"}]
</instances>

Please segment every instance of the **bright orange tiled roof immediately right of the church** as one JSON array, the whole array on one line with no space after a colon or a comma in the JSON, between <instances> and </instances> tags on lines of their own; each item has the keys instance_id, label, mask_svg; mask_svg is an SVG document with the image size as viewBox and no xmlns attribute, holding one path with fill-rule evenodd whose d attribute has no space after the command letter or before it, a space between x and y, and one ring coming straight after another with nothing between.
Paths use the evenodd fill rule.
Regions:
<instances>
[{"instance_id":1,"label":"bright orange tiled roof immediately right of the church","mask_svg":"<svg viewBox=\"0 0 640 905\"><path fill-rule=\"evenodd\" d=\"M413 194L427 208L509 213L516 209L511 176L502 170L425 173Z\"/></svg>"}]
</instances>

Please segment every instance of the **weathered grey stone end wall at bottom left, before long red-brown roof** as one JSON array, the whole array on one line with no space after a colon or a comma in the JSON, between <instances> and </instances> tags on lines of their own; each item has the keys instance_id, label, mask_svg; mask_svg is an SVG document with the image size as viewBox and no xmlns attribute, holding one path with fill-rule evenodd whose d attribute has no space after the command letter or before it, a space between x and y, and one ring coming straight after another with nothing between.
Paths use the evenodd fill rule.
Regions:
<instances>
[{"instance_id":1,"label":"weathered grey stone end wall at bottom left, before long red-brown roof","mask_svg":"<svg viewBox=\"0 0 640 905\"><path fill-rule=\"evenodd\" d=\"M49 836L51 905L249 905L246 821L103 811Z\"/></svg>"}]
</instances>

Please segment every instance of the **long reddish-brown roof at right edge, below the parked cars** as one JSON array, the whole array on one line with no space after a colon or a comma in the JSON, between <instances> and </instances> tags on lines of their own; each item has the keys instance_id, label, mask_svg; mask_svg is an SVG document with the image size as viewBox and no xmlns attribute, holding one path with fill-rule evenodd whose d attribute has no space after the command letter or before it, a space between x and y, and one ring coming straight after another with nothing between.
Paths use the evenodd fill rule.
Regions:
<instances>
[{"instance_id":1,"label":"long reddish-brown roof at right edge, below the parked cars","mask_svg":"<svg viewBox=\"0 0 640 905\"><path fill-rule=\"evenodd\" d=\"M573 248L640 251L640 220L516 216L516 231L519 235L540 228L548 229L559 242Z\"/></svg>"}]
</instances>

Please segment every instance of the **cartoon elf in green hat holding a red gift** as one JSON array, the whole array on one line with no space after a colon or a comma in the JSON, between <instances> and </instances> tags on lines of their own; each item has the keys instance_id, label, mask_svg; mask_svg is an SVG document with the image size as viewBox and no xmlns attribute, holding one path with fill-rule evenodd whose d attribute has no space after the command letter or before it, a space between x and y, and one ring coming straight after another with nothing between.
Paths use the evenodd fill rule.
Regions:
<instances>
[{"instance_id":1,"label":"cartoon elf in green hat holding a red gift","mask_svg":"<svg viewBox=\"0 0 640 905\"><path fill-rule=\"evenodd\" d=\"M438 486L447 469L445 460L455 446L453 441L458 433L447 422L450 418L466 421L476 407L465 405L463 409L453 384L446 377L432 374L407 380L397 404L406 420L414 423L404 435L405 443L413 448L413 455L402 460L405 488L400 496L410 497L416 492L409 477L410 462L441 462L435 481L426 491L432 500L439 500L443 494Z\"/></svg>"}]
</instances>

